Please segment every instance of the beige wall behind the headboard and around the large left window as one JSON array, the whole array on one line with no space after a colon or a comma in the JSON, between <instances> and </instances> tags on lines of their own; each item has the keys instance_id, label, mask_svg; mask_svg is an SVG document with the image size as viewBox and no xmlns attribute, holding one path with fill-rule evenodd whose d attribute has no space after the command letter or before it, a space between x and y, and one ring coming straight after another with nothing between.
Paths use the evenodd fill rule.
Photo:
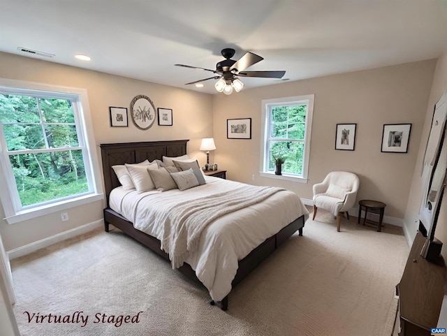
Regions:
<instances>
[{"instance_id":1,"label":"beige wall behind the headboard and around the large left window","mask_svg":"<svg viewBox=\"0 0 447 336\"><path fill-rule=\"evenodd\" d=\"M0 78L87 89L97 144L189 139L188 152L191 156L199 159L201 164L206 161L205 154L198 148L202 138L212 136L212 96L209 94L1 52ZM132 98L138 94L149 96L155 108L172 108L173 126L158 126L154 122L150 129L142 131L133 125L129 115L129 127L110 127L109 106L129 110ZM97 151L99 156L99 148ZM70 220L66 222L62 222L60 214L55 213L9 225L3 220L4 211L0 205L0 234L6 251L10 251L101 220L102 210L103 202L99 201L68 210Z\"/></svg>"}]
</instances>

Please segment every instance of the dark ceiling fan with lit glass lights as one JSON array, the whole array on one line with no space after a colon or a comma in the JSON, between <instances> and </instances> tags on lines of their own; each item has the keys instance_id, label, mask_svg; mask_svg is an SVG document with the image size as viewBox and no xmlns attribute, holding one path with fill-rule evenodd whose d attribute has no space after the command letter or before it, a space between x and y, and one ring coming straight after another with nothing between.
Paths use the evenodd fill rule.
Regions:
<instances>
[{"instance_id":1,"label":"dark ceiling fan with lit glass lights","mask_svg":"<svg viewBox=\"0 0 447 336\"><path fill-rule=\"evenodd\" d=\"M217 80L214 87L218 92L224 94L231 94L233 89L236 92L240 92L244 83L242 83L239 77L258 77L258 78L282 78L286 71L245 71L246 68L252 66L258 61L262 61L263 57L254 54L253 52L246 52L244 56L235 61L231 59L234 56L235 50L232 48L225 48L221 51L221 54L225 59L216 64L216 70L207 68L200 68L198 66L186 66L184 64L175 64L175 66L183 66L184 68L193 68L205 71L211 71L215 75L203 80L196 80L194 82L186 83L185 85L196 84L204 82L205 80Z\"/></svg>"}]
</instances>

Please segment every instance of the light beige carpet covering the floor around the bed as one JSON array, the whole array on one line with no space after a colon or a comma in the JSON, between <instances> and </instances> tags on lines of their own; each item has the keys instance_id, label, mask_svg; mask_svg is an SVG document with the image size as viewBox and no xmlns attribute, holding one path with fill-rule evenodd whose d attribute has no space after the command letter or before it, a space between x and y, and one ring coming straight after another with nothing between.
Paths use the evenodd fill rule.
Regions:
<instances>
[{"instance_id":1,"label":"light beige carpet covering the floor around the bed","mask_svg":"<svg viewBox=\"0 0 447 336\"><path fill-rule=\"evenodd\" d=\"M17 258L11 265L20 333L390 335L395 285L409 253L402 228L387 224L379 233L354 217L337 233L331 214L319 210L316 219L233 289L227 312L208 304L203 286L117 229ZM119 323L138 312L138 323ZM36 322L49 314L67 323ZM81 316L88 316L85 326Z\"/></svg>"}]
</instances>

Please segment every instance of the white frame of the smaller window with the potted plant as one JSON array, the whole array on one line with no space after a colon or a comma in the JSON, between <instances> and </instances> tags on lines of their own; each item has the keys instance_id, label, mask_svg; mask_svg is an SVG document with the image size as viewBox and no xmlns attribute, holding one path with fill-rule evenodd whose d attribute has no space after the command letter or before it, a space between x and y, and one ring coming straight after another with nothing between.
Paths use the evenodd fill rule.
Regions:
<instances>
[{"instance_id":1,"label":"white frame of the smaller window with the potted plant","mask_svg":"<svg viewBox=\"0 0 447 336\"><path fill-rule=\"evenodd\" d=\"M304 96L292 96L284 98L264 99L261 107L261 161L260 172L262 177L270 177L278 180L289 180L300 183L307 183L307 176L309 172L309 157L310 157L310 139L312 133L312 117L314 115L314 94L307 94ZM274 106L283 105L307 105L306 126L305 126L305 146L304 158L302 163L302 175L282 173L282 175L275 175L274 172L268 170L268 140L270 137L270 109Z\"/></svg>"}]
</instances>

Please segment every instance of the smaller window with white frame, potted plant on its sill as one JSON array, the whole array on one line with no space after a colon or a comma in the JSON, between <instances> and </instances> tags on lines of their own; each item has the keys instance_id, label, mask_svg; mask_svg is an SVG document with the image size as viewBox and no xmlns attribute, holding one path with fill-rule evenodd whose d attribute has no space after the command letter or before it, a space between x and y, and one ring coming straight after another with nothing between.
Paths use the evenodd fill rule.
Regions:
<instances>
[{"instance_id":1,"label":"smaller window with white frame, potted plant on its sill","mask_svg":"<svg viewBox=\"0 0 447 336\"><path fill-rule=\"evenodd\" d=\"M307 182L314 95L262 102L261 175ZM274 175L274 157L285 159L282 175Z\"/></svg>"}]
</instances>

